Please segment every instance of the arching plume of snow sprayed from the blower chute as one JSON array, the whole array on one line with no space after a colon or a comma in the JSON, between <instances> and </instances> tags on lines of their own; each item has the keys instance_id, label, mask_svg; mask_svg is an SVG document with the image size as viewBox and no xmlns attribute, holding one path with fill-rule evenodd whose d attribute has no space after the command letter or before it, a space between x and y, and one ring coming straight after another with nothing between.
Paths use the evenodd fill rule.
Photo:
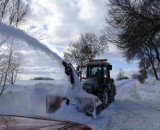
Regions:
<instances>
[{"instance_id":1,"label":"arching plume of snow sprayed from the blower chute","mask_svg":"<svg viewBox=\"0 0 160 130\"><path fill-rule=\"evenodd\" d=\"M2 35L9 35L11 37L23 40L27 43L28 46L33 47L35 50L40 50L42 52L45 52L47 55L49 55L51 58L56 59L60 67L62 66L62 58L60 58L56 53L51 51L47 46L40 43L37 39L29 36L24 31L14 28L13 26L7 26L4 23L0 22L0 34Z\"/></svg>"}]
</instances>

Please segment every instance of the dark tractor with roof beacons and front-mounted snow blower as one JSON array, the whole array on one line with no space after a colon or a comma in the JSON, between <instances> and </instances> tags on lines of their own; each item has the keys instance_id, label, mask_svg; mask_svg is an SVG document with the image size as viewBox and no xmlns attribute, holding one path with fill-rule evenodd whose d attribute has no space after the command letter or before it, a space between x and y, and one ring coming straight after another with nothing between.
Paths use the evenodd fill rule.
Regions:
<instances>
[{"instance_id":1,"label":"dark tractor with roof beacons and front-mounted snow blower","mask_svg":"<svg viewBox=\"0 0 160 130\"><path fill-rule=\"evenodd\" d=\"M47 96L47 113L54 113L62 103L74 105L77 111L96 117L114 101L116 88L110 78L112 65L107 59L89 60L77 70L70 63L63 61L66 75L70 78L71 88L66 96Z\"/></svg>"}]
</instances>

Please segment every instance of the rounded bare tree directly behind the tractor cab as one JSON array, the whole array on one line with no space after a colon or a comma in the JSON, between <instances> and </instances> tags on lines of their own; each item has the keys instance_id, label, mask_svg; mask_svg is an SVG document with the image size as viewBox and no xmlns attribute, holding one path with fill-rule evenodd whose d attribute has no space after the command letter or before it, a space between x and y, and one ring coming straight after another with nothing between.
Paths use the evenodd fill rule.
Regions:
<instances>
[{"instance_id":1,"label":"rounded bare tree directly behind the tractor cab","mask_svg":"<svg viewBox=\"0 0 160 130\"><path fill-rule=\"evenodd\" d=\"M102 54L107 47L104 36L98 38L93 33L81 34L78 41L70 42L69 47L64 51L64 58L77 66L82 66L89 59Z\"/></svg>"}]
</instances>

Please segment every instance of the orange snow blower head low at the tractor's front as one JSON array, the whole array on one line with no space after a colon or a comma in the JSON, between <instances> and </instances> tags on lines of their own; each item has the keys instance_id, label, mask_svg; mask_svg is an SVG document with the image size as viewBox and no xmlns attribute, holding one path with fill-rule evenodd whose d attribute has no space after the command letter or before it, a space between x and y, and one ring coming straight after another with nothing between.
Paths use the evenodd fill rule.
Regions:
<instances>
[{"instance_id":1,"label":"orange snow blower head low at the tractor's front","mask_svg":"<svg viewBox=\"0 0 160 130\"><path fill-rule=\"evenodd\" d=\"M65 102L67 105L73 105L78 112L83 112L88 116L96 117L101 112L101 101L99 98L76 97L76 104L70 102L66 97L61 96L47 96L46 110L47 113L55 113Z\"/></svg>"}]
</instances>

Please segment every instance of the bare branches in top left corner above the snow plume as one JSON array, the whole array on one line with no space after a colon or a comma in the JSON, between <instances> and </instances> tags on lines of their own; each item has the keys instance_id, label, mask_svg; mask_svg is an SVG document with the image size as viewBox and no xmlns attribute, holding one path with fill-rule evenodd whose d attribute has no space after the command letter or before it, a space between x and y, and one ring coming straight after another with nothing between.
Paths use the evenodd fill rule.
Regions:
<instances>
[{"instance_id":1,"label":"bare branches in top left corner above the snow plume","mask_svg":"<svg viewBox=\"0 0 160 130\"><path fill-rule=\"evenodd\" d=\"M29 14L29 0L1 0L0 21L18 27L26 21Z\"/></svg>"}]
</instances>

